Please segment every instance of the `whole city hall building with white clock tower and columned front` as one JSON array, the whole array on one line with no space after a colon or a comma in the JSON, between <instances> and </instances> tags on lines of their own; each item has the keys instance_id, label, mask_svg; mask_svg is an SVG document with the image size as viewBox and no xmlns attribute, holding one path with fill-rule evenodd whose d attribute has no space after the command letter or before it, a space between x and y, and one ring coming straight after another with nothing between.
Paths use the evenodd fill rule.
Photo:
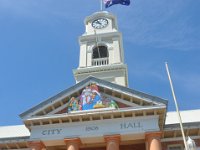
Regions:
<instances>
[{"instance_id":1,"label":"whole city hall building with white clock tower and columned front","mask_svg":"<svg viewBox=\"0 0 200 150\"><path fill-rule=\"evenodd\" d=\"M96 12L84 24L76 84L20 114L24 125L0 127L0 149L183 150L167 101L128 88L116 17ZM181 115L186 137L200 147L200 110Z\"/></svg>"}]
</instances>

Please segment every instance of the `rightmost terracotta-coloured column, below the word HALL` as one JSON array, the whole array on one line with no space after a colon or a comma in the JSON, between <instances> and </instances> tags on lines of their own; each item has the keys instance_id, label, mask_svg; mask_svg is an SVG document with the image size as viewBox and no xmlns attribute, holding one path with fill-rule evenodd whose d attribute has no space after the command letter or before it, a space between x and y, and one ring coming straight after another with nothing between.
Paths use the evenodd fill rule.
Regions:
<instances>
[{"instance_id":1,"label":"rightmost terracotta-coloured column, below the word HALL","mask_svg":"<svg viewBox=\"0 0 200 150\"><path fill-rule=\"evenodd\" d=\"M161 135L162 132L146 133L145 138L147 150L162 150L160 142Z\"/></svg>"}]
</instances>

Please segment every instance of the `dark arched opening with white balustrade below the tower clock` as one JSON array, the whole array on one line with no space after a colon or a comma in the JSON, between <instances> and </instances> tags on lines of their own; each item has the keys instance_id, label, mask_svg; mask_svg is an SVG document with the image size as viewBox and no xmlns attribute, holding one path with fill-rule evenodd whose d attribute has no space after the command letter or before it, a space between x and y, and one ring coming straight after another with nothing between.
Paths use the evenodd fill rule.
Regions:
<instances>
[{"instance_id":1,"label":"dark arched opening with white balustrade below the tower clock","mask_svg":"<svg viewBox=\"0 0 200 150\"><path fill-rule=\"evenodd\" d=\"M100 66L108 64L108 49L106 46L96 46L92 52L92 65Z\"/></svg>"}]
</instances>

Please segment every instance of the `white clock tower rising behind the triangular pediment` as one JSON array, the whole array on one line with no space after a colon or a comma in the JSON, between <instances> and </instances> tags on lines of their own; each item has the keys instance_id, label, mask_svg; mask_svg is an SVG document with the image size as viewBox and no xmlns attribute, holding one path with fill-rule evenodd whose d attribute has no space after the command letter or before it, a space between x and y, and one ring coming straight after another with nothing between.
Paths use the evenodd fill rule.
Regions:
<instances>
[{"instance_id":1,"label":"white clock tower rising behind the triangular pediment","mask_svg":"<svg viewBox=\"0 0 200 150\"><path fill-rule=\"evenodd\" d=\"M85 33L79 37L79 67L73 70L76 83L88 76L128 86L122 34L116 17L106 11L86 17Z\"/></svg>"}]
</instances>

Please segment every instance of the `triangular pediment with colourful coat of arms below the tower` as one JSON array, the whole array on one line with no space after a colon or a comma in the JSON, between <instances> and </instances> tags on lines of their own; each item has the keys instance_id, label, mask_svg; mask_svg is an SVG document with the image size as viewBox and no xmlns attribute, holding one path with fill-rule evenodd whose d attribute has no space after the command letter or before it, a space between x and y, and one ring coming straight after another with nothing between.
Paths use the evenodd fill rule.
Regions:
<instances>
[{"instance_id":1,"label":"triangular pediment with colourful coat of arms below the tower","mask_svg":"<svg viewBox=\"0 0 200 150\"><path fill-rule=\"evenodd\" d=\"M92 97L95 99L92 100ZM103 111L105 109L158 105L167 105L167 101L108 81L88 77L22 113L20 117L26 119L35 116L88 111L90 109L102 109Z\"/></svg>"}]
</instances>

